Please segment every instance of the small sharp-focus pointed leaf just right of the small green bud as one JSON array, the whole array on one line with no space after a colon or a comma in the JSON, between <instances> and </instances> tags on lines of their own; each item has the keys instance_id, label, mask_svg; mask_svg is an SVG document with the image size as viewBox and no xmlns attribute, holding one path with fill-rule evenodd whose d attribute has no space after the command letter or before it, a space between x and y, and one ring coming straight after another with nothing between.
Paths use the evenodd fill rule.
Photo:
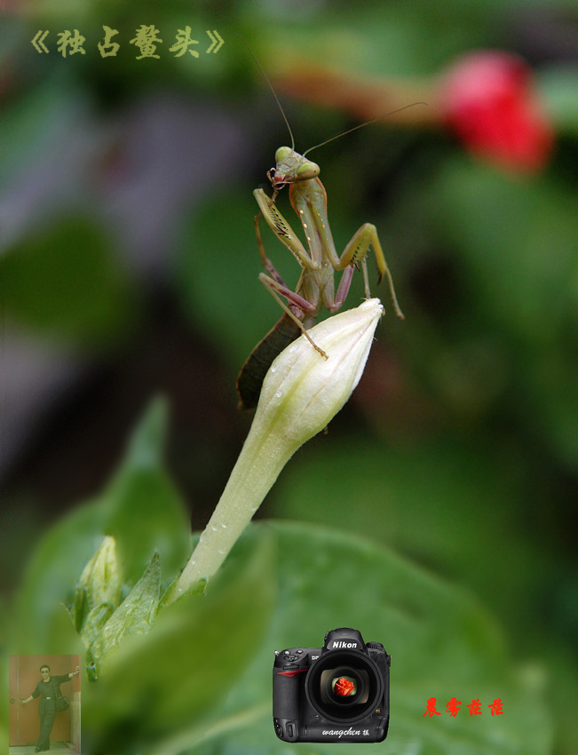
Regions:
<instances>
[{"instance_id":1,"label":"small sharp-focus pointed leaf just right of the small green bud","mask_svg":"<svg viewBox=\"0 0 578 755\"><path fill-rule=\"evenodd\" d=\"M150 632L159 606L160 587L161 560L158 553L154 553L139 582L91 642L87 657L97 679L125 635Z\"/></svg>"}]
</instances>

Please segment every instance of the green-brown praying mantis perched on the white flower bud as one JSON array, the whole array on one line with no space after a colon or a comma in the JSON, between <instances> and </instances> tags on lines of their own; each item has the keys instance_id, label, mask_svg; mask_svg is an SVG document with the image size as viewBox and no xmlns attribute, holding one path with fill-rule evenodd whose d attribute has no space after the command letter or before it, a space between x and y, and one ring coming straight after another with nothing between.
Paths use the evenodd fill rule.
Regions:
<instances>
[{"instance_id":1,"label":"green-brown praying mantis perched on the white flower bud","mask_svg":"<svg viewBox=\"0 0 578 755\"><path fill-rule=\"evenodd\" d=\"M257 61L257 65L258 61ZM259 68L260 65L259 65ZM261 68L263 71L263 69ZM265 72L263 71L264 75ZM265 75L265 78L267 76ZM267 78L269 82L269 79ZM398 300L393 287L392 274L385 261L384 250L377 235L376 227L371 223L364 223L345 246L341 256L337 254L335 243L329 228L327 214L327 193L319 179L320 166L306 158L306 150L300 155L295 150L293 133L281 103L273 90L273 96L281 109L281 114L289 128L291 147L279 147L275 153L275 166L267 171L267 177L273 187L273 195L268 196L261 188L255 189L253 195L257 200L259 212L255 217L255 233L257 245L261 255L261 262L266 272L259 274L262 282L273 298L279 303L284 314L265 338L253 349L249 358L241 368L237 378L237 393L239 394L240 409L253 409L257 406L261 385L265 374L273 359L296 338L303 333L312 347L322 358L328 359L328 354L317 346L307 333L325 306L329 313L334 314L344 304L352 283L353 271L359 266L363 274L366 298L371 298L369 291L367 256L371 246L376 258L379 274L378 283L384 275L389 284L395 314L403 319ZM416 103L415 103L416 104ZM411 107L411 106L407 106ZM403 108L402 108L403 109ZM378 119L375 119L378 120ZM368 123L374 123L369 121ZM361 123L343 134L322 142L321 147L333 139L338 139L346 133L355 131L368 123ZM289 200L297 213L298 219L305 232L307 249L299 240L297 234L289 226L286 219L275 205L275 199L282 187L289 185ZM289 249L301 266L301 276L296 290L291 290L281 275L275 270L273 263L265 253L265 246L261 237L260 221L265 219L273 234ZM335 290L335 273L341 273L341 278ZM283 300L284 299L284 300Z\"/></svg>"}]
</instances>

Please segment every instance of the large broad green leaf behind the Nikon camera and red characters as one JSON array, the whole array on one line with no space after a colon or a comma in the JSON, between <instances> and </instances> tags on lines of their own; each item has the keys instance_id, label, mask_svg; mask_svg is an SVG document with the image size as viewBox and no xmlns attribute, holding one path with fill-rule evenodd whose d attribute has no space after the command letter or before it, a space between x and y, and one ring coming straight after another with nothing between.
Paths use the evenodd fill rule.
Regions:
<instances>
[{"instance_id":1,"label":"large broad green leaf behind the Nikon camera and red characters","mask_svg":"<svg viewBox=\"0 0 578 755\"><path fill-rule=\"evenodd\" d=\"M469 594L358 537L311 525L273 526L279 537L279 597L273 623L218 720L212 727L189 732L191 752L287 752L288 744L273 731L273 650L319 648L325 632L338 626L359 629L364 640L382 642L392 656L388 751L550 751L550 724L535 684L541 674L518 672L494 620ZM462 702L456 718L446 712L453 696ZM434 719L424 718L430 697L437 698L441 713ZM504 713L492 717L487 705L498 697ZM471 718L466 705L474 698L479 698L483 713ZM185 749L184 735L179 746ZM335 745L310 744L305 750L312 755L329 753ZM359 755L360 748L341 743L339 751ZM383 751L383 744L363 747L368 755Z\"/></svg>"}]
</instances>

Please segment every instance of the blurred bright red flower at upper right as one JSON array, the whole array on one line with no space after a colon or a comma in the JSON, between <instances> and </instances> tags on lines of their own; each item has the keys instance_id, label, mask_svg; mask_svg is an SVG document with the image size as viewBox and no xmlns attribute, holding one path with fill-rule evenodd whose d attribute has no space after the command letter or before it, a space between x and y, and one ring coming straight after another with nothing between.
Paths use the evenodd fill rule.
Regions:
<instances>
[{"instance_id":1,"label":"blurred bright red flower at upper right","mask_svg":"<svg viewBox=\"0 0 578 755\"><path fill-rule=\"evenodd\" d=\"M476 155L515 171L548 160L554 132L534 92L527 64L507 52L475 52L443 78L444 120Z\"/></svg>"}]
</instances>

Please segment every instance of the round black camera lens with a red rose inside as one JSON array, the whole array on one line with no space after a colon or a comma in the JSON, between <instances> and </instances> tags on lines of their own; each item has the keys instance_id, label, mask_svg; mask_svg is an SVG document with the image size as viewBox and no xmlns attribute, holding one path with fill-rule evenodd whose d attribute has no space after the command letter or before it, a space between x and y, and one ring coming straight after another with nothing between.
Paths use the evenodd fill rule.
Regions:
<instances>
[{"instance_id":1,"label":"round black camera lens with a red rose inside","mask_svg":"<svg viewBox=\"0 0 578 755\"><path fill-rule=\"evenodd\" d=\"M356 651L338 651L314 664L305 691L313 707L326 719L354 721L368 714L383 694L381 674L374 662Z\"/></svg>"}]
</instances>

